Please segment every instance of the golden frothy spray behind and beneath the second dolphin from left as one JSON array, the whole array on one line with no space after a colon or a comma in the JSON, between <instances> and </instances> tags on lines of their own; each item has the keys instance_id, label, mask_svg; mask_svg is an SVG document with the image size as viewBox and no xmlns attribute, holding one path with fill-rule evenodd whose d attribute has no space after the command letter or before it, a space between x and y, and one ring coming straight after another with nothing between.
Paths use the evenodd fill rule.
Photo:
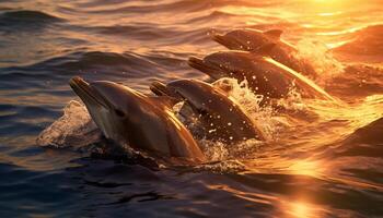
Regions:
<instances>
[{"instance_id":1,"label":"golden frothy spray behind and beneath the second dolphin from left","mask_svg":"<svg viewBox=\"0 0 383 218\"><path fill-rule=\"evenodd\" d=\"M293 125L287 116L277 111L275 107L262 106L263 95L255 94L248 88L247 81L240 82L235 78L221 78L212 83L216 88L224 90L229 98L234 100L249 116L255 125L260 129L268 138L268 142L262 142L254 138L240 142L233 145L227 145L221 142L199 141L202 150L210 161L221 161L213 166L202 166L207 170L218 169L242 169L241 160L256 157L259 148L267 146L270 142L275 143L279 138L279 133ZM286 110L307 110L300 94L295 88L291 88L288 97L276 101L276 105ZM234 161L235 160L235 161ZM234 162L233 162L234 161ZM232 168L231 168L232 167Z\"/></svg>"}]
</instances>

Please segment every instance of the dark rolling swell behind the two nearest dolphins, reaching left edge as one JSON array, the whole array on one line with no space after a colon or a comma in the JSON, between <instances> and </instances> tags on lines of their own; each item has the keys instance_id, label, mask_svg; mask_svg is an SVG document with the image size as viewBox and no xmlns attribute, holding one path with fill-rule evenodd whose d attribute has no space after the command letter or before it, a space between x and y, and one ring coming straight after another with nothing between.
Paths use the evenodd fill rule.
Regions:
<instances>
[{"instance_id":1,"label":"dark rolling swell behind the two nearest dolphins, reaching left edge","mask_svg":"<svg viewBox=\"0 0 383 218\"><path fill-rule=\"evenodd\" d=\"M183 75L182 72L189 69L185 62L188 56L189 53L164 50L152 50L147 53L71 52L30 65L0 69L0 89L43 88L47 92L47 87L54 89L66 87L63 93L67 95L68 80L71 76L81 75L90 81L111 80L132 85L140 90L148 90L150 81L169 81L176 77L177 72L179 72L178 76ZM197 75L201 76L201 74ZM146 80L140 82L142 78ZM62 89L58 93L49 90L53 95L61 95L60 92Z\"/></svg>"}]
</instances>

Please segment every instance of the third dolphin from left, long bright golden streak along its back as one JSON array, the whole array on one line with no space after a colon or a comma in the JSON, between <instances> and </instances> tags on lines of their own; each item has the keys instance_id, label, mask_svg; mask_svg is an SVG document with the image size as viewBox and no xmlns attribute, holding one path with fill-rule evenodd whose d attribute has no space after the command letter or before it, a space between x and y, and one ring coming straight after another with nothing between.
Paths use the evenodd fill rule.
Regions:
<instances>
[{"instance_id":1,"label":"third dolphin from left, long bright golden streak along its back","mask_svg":"<svg viewBox=\"0 0 383 218\"><path fill-rule=\"evenodd\" d=\"M213 80L234 77L246 80L256 94L268 98L283 98L294 84L305 98L335 100L324 89L302 74L275 61L247 51L219 51L204 59L192 57L188 64L210 75Z\"/></svg>"}]
</instances>

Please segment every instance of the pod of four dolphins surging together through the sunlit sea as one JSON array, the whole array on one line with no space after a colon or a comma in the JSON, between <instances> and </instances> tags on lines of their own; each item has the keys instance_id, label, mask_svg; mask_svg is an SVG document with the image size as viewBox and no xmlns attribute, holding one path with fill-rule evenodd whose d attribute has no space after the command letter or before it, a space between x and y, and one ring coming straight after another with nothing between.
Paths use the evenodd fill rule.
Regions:
<instances>
[{"instance_id":1,"label":"pod of four dolphins surging together through the sunlit sea","mask_svg":"<svg viewBox=\"0 0 383 218\"><path fill-rule=\"evenodd\" d=\"M246 80L248 87L266 99L283 98L294 86L302 97L336 101L299 73L312 72L292 58L291 53L297 50L281 41L280 34L281 31L276 29L237 29L213 35L216 41L236 50L214 52L204 59L190 57L188 63L213 80ZM267 140L223 87L213 87L202 81L153 82L150 89L156 96L147 96L107 81L86 83L77 76L69 83L106 138L154 157L197 164L207 160L189 130L173 112L174 105L179 101L184 102L181 113L189 110L198 114L208 140L227 144L249 138Z\"/></svg>"}]
</instances>

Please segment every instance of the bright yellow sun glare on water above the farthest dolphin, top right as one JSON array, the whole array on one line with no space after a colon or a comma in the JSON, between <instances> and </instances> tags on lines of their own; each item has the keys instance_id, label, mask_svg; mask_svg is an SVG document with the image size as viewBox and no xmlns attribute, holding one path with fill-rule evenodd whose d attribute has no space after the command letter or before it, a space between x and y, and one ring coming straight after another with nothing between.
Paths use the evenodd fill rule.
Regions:
<instances>
[{"instance_id":1,"label":"bright yellow sun glare on water above the farthest dolphin, top right","mask_svg":"<svg viewBox=\"0 0 383 218\"><path fill-rule=\"evenodd\" d=\"M285 29L282 38L293 44L302 38L310 38L326 44L328 48L335 48L352 40L353 33L381 23L381 15L355 19L357 11L368 11L374 7L380 7L380 1L294 0L286 1L278 8L268 10L256 7L228 5L221 8L220 11L239 15L240 22L246 25L256 26L262 19L268 17L269 23L272 25L277 23L278 28ZM287 23L289 25L285 26ZM290 23L298 25L298 28L294 28L294 25L291 26Z\"/></svg>"}]
</instances>

